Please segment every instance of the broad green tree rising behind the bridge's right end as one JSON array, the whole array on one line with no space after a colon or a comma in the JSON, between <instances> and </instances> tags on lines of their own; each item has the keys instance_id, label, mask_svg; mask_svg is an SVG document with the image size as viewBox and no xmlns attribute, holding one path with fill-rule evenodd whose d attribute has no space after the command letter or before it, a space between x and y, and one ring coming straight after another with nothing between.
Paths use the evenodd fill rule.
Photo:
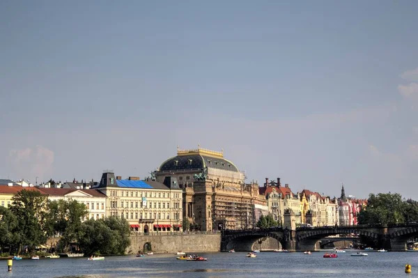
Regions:
<instances>
[{"instance_id":1,"label":"broad green tree rising behind the bridge's right end","mask_svg":"<svg viewBox=\"0 0 418 278\"><path fill-rule=\"evenodd\" d=\"M404 209L401 194L369 194L366 208L359 212L359 224L402 224L405 222Z\"/></svg>"}]
</instances>

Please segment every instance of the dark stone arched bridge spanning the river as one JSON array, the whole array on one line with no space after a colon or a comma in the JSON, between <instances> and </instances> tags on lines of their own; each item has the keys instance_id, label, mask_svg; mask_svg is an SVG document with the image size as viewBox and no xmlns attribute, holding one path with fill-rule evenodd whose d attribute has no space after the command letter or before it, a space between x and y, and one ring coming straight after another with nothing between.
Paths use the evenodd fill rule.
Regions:
<instances>
[{"instance_id":1,"label":"dark stone arched bridge spanning the river","mask_svg":"<svg viewBox=\"0 0 418 278\"><path fill-rule=\"evenodd\" d=\"M290 230L282 227L269 229L225 230L222 231L222 251L249 251L261 238L274 238L283 249L289 251L319 249L318 241L330 235L355 235L364 245L373 248L385 248L392 251L405 251L409 238L418 237L417 224L392 226L357 225L323 226L297 228ZM358 240L358 239L357 239Z\"/></svg>"}]
</instances>

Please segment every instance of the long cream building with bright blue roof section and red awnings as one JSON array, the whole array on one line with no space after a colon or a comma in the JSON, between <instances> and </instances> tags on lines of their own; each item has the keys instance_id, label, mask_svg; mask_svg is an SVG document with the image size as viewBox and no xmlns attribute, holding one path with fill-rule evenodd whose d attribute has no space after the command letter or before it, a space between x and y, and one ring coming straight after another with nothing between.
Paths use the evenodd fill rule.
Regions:
<instances>
[{"instance_id":1,"label":"long cream building with bright blue roof section and red awnings","mask_svg":"<svg viewBox=\"0 0 418 278\"><path fill-rule=\"evenodd\" d=\"M183 196L176 178L167 177L164 183L137 177L123 180L106 171L93 187L107 196L106 215L124 217L132 231L148 234L182 230Z\"/></svg>"}]
</instances>

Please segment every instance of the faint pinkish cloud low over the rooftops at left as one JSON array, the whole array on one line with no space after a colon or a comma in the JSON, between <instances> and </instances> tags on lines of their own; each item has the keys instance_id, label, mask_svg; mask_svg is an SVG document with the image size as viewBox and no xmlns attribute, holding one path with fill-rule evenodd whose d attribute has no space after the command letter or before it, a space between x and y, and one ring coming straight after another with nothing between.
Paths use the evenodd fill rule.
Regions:
<instances>
[{"instance_id":1,"label":"faint pinkish cloud low over the rooftops at left","mask_svg":"<svg viewBox=\"0 0 418 278\"><path fill-rule=\"evenodd\" d=\"M54 152L44 146L10 150L9 158L13 165L13 171L20 178L38 177L42 180L52 173Z\"/></svg>"}]
</instances>

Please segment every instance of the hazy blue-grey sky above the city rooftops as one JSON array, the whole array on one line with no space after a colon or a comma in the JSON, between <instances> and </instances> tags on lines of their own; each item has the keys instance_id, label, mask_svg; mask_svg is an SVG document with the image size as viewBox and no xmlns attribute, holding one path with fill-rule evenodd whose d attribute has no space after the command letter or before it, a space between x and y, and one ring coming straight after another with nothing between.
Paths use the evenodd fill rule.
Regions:
<instances>
[{"instance_id":1,"label":"hazy blue-grey sky above the city rooftops","mask_svg":"<svg viewBox=\"0 0 418 278\"><path fill-rule=\"evenodd\" d=\"M417 10L0 1L0 178L144 178L200 144L247 182L418 200Z\"/></svg>"}]
</instances>

